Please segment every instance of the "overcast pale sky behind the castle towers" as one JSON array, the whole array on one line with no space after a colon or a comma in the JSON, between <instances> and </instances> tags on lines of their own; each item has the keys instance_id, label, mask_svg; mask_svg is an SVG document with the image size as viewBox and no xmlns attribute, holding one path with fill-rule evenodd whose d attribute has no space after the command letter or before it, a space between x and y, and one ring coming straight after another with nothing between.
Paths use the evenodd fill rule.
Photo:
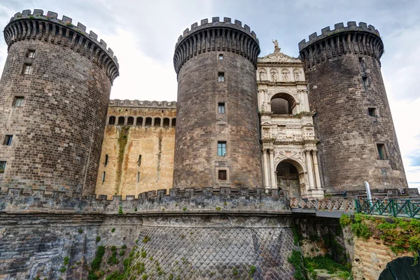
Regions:
<instances>
[{"instance_id":1,"label":"overcast pale sky behind the castle towers","mask_svg":"<svg viewBox=\"0 0 420 280\"><path fill-rule=\"evenodd\" d=\"M393 113L409 186L420 187L420 1L129 1L129 0L0 0L0 22L5 26L18 11L52 10L66 15L102 38L120 63L112 99L176 100L172 55L184 29L204 18L241 20L255 31L260 56L273 50L297 57L299 43L309 34L333 29L337 22L367 22L381 33L385 53L382 74ZM0 69L7 46L0 38Z\"/></svg>"}]
</instances>

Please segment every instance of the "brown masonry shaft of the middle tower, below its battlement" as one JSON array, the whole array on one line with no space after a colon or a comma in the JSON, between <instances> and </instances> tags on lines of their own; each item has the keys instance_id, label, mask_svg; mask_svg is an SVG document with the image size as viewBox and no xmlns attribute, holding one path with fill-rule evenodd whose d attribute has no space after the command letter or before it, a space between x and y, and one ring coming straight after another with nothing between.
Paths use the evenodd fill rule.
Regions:
<instances>
[{"instance_id":1,"label":"brown masonry shaft of the middle tower, below its battlement","mask_svg":"<svg viewBox=\"0 0 420 280\"><path fill-rule=\"evenodd\" d=\"M204 52L182 66L178 81L174 187L261 187L253 63L235 52ZM224 114L218 102L225 102ZM226 141L225 157L217 154L218 141ZM218 169L228 170L226 182L218 181Z\"/></svg>"}]
</instances>

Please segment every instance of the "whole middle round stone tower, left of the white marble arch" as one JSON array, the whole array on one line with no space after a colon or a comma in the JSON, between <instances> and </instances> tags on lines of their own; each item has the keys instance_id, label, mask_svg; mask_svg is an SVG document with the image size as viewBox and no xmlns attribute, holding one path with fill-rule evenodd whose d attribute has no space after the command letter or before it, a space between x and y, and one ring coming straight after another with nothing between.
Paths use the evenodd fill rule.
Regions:
<instances>
[{"instance_id":1,"label":"whole middle round stone tower, left of the white marble arch","mask_svg":"<svg viewBox=\"0 0 420 280\"><path fill-rule=\"evenodd\" d=\"M175 46L174 188L261 187L258 39L230 18L191 25Z\"/></svg>"}]
</instances>

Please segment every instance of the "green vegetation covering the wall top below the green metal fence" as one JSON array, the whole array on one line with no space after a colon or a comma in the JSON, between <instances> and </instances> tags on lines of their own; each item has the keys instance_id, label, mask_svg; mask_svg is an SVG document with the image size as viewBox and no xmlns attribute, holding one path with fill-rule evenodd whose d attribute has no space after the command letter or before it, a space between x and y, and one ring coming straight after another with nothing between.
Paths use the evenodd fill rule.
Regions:
<instances>
[{"instance_id":1,"label":"green vegetation covering the wall top below the green metal fence","mask_svg":"<svg viewBox=\"0 0 420 280\"><path fill-rule=\"evenodd\" d=\"M369 239L379 237L393 253L408 251L414 254L415 263L419 261L420 221L414 218L376 218L355 214L353 218L342 216L340 224L349 226L356 237Z\"/></svg>"}]
</instances>

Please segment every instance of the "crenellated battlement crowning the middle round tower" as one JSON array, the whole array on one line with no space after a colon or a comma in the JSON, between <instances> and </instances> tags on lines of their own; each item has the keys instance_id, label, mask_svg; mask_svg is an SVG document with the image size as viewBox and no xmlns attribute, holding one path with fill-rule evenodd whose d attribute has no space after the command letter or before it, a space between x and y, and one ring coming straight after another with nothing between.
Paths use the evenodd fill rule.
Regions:
<instances>
[{"instance_id":1,"label":"crenellated battlement crowning the middle round tower","mask_svg":"<svg viewBox=\"0 0 420 280\"><path fill-rule=\"evenodd\" d=\"M201 20L187 28L179 36L175 44L174 67L179 73L181 66L190 58L201 52L212 50L228 50L237 52L248 58L255 64L260 53L260 43L254 31L248 25L242 27L242 22L235 20L232 23L230 18L218 17ZM244 36L245 35L245 36Z\"/></svg>"}]
</instances>

